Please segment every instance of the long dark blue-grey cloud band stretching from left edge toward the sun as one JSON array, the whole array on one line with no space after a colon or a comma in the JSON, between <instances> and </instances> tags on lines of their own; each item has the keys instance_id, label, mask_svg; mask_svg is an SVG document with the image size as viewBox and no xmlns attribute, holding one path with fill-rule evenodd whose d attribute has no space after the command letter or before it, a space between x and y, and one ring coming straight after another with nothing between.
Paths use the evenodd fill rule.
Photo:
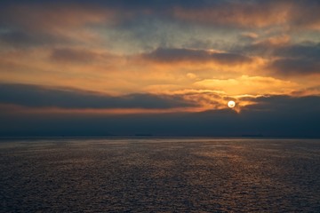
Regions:
<instances>
[{"instance_id":1,"label":"long dark blue-grey cloud band stretching from left edge toward the sun","mask_svg":"<svg viewBox=\"0 0 320 213\"><path fill-rule=\"evenodd\" d=\"M196 106L180 96L154 94L105 94L44 88L24 84L0 84L0 103L29 107L60 108L148 108L167 109Z\"/></svg>"}]
</instances>

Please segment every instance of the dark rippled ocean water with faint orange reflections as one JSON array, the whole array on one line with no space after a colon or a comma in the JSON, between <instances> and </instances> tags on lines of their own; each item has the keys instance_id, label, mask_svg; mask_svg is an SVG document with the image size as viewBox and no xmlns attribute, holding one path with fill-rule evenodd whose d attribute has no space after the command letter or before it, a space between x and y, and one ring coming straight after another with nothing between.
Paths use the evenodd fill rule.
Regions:
<instances>
[{"instance_id":1,"label":"dark rippled ocean water with faint orange reflections","mask_svg":"<svg viewBox=\"0 0 320 213\"><path fill-rule=\"evenodd\" d=\"M0 212L320 212L320 140L0 140Z\"/></svg>"}]
</instances>

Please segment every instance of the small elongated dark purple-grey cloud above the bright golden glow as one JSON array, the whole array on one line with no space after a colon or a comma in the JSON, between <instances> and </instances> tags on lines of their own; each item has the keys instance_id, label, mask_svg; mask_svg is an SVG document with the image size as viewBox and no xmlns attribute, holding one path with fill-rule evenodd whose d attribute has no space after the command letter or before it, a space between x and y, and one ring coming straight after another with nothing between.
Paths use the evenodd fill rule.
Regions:
<instances>
[{"instance_id":1,"label":"small elongated dark purple-grey cloud above the bright golden glow","mask_svg":"<svg viewBox=\"0 0 320 213\"><path fill-rule=\"evenodd\" d=\"M220 64L241 64L251 61L250 58L243 55L228 52L213 52L191 49L163 49L158 48L155 51L144 54L145 59L156 60L159 62L171 63L180 61L191 62L210 62L214 61Z\"/></svg>"}]
</instances>

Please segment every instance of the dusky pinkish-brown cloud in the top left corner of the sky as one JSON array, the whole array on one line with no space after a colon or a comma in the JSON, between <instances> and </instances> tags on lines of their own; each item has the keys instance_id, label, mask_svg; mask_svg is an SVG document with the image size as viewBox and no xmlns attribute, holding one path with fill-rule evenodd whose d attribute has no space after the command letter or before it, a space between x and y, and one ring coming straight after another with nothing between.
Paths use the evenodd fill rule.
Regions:
<instances>
[{"instance_id":1,"label":"dusky pinkish-brown cloud in the top left corner of the sky","mask_svg":"<svg viewBox=\"0 0 320 213\"><path fill-rule=\"evenodd\" d=\"M84 2L0 3L0 42L16 48L98 42L89 27L113 23L114 16L108 8Z\"/></svg>"}]
</instances>

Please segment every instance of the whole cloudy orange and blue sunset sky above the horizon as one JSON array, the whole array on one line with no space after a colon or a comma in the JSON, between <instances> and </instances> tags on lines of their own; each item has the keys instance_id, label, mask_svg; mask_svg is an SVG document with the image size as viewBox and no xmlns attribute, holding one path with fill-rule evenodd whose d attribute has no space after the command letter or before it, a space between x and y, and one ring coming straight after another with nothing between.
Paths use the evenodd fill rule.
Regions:
<instances>
[{"instance_id":1,"label":"whole cloudy orange and blue sunset sky above the horizon","mask_svg":"<svg viewBox=\"0 0 320 213\"><path fill-rule=\"evenodd\" d=\"M317 0L3 0L0 136L320 137L319 14Z\"/></svg>"}]
</instances>

